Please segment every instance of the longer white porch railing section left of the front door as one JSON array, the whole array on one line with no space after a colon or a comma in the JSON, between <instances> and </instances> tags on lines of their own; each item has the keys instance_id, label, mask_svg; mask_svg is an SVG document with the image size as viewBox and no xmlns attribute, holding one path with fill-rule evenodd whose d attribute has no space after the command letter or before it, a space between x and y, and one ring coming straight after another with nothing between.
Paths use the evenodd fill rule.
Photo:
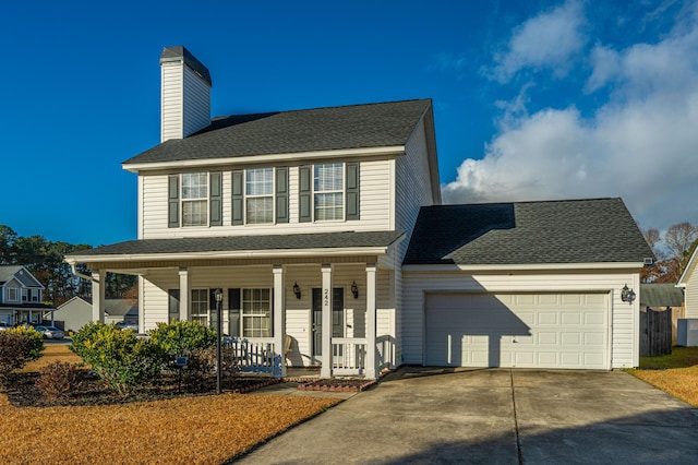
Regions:
<instances>
[{"instance_id":1,"label":"longer white porch railing section left of the front door","mask_svg":"<svg viewBox=\"0 0 698 465\"><path fill-rule=\"evenodd\" d=\"M240 371L281 373L281 356L275 350L274 337L224 337L222 347Z\"/></svg>"}]
</instances>

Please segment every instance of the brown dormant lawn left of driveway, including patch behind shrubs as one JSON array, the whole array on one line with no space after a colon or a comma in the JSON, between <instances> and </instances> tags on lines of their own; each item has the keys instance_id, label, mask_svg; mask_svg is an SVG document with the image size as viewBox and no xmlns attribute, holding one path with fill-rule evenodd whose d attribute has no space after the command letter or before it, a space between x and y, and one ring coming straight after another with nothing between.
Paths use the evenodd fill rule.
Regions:
<instances>
[{"instance_id":1,"label":"brown dormant lawn left of driveway, including patch behind shrubs","mask_svg":"<svg viewBox=\"0 0 698 465\"><path fill-rule=\"evenodd\" d=\"M64 345L47 346L44 354L25 370L35 371L53 360L80 361ZM339 402L222 394L17 408L0 394L7 439L0 463L220 464Z\"/></svg>"}]
</instances>

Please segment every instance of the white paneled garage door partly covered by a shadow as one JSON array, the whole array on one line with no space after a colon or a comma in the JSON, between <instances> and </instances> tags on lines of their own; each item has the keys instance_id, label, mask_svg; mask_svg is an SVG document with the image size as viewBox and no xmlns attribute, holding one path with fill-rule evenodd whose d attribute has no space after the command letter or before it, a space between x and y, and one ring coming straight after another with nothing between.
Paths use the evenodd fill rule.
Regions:
<instances>
[{"instance_id":1,"label":"white paneled garage door partly covered by a shadow","mask_svg":"<svg viewBox=\"0 0 698 465\"><path fill-rule=\"evenodd\" d=\"M609 368L606 294L429 294L425 365Z\"/></svg>"}]
</instances>

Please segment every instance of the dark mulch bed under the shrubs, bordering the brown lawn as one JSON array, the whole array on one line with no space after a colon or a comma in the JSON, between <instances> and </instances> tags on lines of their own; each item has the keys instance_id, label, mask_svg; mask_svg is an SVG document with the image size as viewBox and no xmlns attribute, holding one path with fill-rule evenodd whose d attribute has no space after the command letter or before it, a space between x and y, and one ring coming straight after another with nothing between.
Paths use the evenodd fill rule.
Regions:
<instances>
[{"instance_id":1,"label":"dark mulch bed under the shrubs, bordering the brown lawn","mask_svg":"<svg viewBox=\"0 0 698 465\"><path fill-rule=\"evenodd\" d=\"M46 407L56 405L109 405L133 402L159 401L166 398L206 395L216 392L215 374L206 377L198 383L181 382L177 373L164 373L147 385L134 389L125 395L107 388L99 379L85 370L80 385L63 397L46 398L35 383L38 372L11 373L0 392L8 396L16 407ZM261 388L281 382L278 378L225 375L221 379L224 392L249 393Z\"/></svg>"}]
</instances>

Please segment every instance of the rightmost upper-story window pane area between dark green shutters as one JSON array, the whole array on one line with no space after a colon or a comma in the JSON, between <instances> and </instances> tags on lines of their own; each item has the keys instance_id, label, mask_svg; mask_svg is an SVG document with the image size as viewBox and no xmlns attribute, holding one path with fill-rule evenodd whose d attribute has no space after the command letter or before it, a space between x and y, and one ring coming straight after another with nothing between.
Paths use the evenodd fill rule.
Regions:
<instances>
[{"instance_id":1,"label":"rightmost upper-story window pane area between dark green shutters","mask_svg":"<svg viewBox=\"0 0 698 465\"><path fill-rule=\"evenodd\" d=\"M313 169L316 222L344 219L344 164L315 165Z\"/></svg>"}]
</instances>

